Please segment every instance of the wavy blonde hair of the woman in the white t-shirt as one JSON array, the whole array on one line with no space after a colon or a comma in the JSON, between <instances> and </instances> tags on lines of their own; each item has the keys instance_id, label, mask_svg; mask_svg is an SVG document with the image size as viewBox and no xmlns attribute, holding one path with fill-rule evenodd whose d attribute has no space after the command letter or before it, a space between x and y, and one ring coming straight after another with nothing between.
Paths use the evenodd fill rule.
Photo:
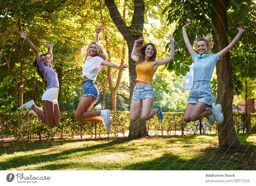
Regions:
<instances>
[{"instance_id":1,"label":"wavy blonde hair of the woman in the white t-shirt","mask_svg":"<svg viewBox=\"0 0 256 186\"><path fill-rule=\"evenodd\" d=\"M92 44L96 45L97 56L100 56L102 59L107 61L108 53L98 42L93 42L91 44L88 44L87 46L81 49L81 55L84 56L84 60L86 60L87 57L90 56L90 47L92 46Z\"/></svg>"}]
</instances>

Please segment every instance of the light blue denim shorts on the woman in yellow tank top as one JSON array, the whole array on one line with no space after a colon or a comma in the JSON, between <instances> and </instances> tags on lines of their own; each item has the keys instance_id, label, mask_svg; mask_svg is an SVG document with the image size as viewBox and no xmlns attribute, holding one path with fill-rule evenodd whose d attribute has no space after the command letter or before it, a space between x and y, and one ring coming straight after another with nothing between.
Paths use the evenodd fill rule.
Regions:
<instances>
[{"instance_id":1,"label":"light blue denim shorts on the woman in yellow tank top","mask_svg":"<svg viewBox=\"0 0 256 186\"><path fill-rule=\"evenodd\" d=\"M146 97L154 100L155 94L152 85L134 87L132 99L136 99L142 102L142 100Z\"/></svg>"}]
</instances>

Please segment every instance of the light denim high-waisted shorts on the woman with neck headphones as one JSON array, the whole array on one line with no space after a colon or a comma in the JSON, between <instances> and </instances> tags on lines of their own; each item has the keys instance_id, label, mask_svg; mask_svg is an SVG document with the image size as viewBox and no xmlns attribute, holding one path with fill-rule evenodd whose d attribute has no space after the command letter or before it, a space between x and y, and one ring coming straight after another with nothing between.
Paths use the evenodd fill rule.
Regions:
<instances>
[{"instance_id":1,"label":"light denim high-waisted shorts on the woman with neck headphones","mask_svg":"<svg viewBox=\"0 0 256 186\"><path fill-rule=\"evenodd\" d=\"M210 80L193 81L193 86L188 95L188 104L198 101L212 107L212 85Z\"/></svg>"}]
</instances>

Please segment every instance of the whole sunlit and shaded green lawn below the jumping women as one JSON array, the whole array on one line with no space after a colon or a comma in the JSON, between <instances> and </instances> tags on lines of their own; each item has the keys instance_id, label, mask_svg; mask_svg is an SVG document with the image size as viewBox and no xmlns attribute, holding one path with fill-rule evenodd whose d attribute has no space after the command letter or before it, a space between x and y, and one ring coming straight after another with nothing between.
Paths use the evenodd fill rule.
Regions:
<instances>
[{"instance_id":1,"label":"whole sunlit and shaded green lawn below the jumping women","mask_svg":"<svg viewBox=\"0 0 256 186\"><path fill-rule=\"evenodd\" d=\"M1 170L255 170L256 135L218 149L217 135L0 144Z\"/></svg>"}]
</instances>

